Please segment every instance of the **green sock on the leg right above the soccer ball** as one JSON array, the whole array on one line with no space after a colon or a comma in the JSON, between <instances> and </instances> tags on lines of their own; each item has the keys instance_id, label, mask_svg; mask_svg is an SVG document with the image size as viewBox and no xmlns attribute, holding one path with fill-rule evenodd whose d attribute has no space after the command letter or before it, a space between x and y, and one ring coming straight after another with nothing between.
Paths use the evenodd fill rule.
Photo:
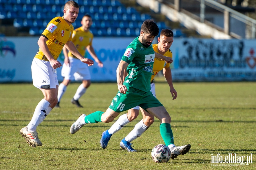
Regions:
<instances>
[{"instance_id":1,"label":"green sock on the leg right above the soccer ball","mask_svg":"<svg viewBox=\"0 0 256 170\"><path fill-rule=\"evenodd\" d=\"M164 139L164 143L166 146L170 144L174 144L173 134L171 125L169 123L161 123L160 124L160 134Z\"/></svg>"}]
</instances>

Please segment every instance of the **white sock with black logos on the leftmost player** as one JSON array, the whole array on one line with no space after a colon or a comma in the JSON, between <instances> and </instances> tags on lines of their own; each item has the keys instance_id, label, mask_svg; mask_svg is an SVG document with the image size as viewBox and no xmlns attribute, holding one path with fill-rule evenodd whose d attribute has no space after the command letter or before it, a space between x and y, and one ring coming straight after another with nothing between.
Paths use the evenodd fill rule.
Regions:
<instances>
[{"instance_id":1,"label":"white sock with black logos on the leftmost player","mask_svg":"<svg viewBox=\"0 0 256 170\"><path fill-rule=\"evenodd\" d=\"M42 99L38 105L36 106L35 112L33 114L33 117L31 121L28 123L28 131L34 132L36 131L36 127L45 119L45 117L48 115L47 111L51 104L45 100Z\"/></svg>"}]
</instances>

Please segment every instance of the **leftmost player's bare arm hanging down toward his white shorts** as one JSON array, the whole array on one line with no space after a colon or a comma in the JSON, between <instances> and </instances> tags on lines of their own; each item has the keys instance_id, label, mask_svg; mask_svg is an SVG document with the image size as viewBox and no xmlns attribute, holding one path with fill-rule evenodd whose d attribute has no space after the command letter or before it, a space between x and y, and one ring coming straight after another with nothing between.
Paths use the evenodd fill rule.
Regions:
<instances>
[{"instance_id":1,"label":"leftmost player's bare arm hanging down toward his white shorts","mask_svg":"<svg viewBox=\"0 0 256 170\"><path fill-rule=\"evenodd\" d=\"M49 51L49 48L47 47L46 41L48 41L48 39L46 37L40 36L38 39L38 45L40 47L40 49L42 50L42 52L44 53L44 55L46 56L46 58L49 60L51 66L56 69L61 67L61 63L57 60L55 60L53 58L53 56L51 55L51 52Z\"/></svg>"}]
</instances>

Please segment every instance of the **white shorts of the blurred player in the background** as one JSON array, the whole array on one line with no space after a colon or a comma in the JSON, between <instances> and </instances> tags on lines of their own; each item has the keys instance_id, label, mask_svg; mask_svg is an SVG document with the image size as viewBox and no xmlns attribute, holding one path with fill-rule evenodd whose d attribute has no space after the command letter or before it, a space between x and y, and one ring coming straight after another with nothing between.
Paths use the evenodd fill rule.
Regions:
<instances>
[{"instance_id":1,"label":"white shorts of the blurred player in the background","mask_svg":"<svg viewBox=\"0 0 256 170\"><path fill-rule=\"evenodd\" d=\"M69 57L69 65L63 64L61 75L66 80L90 80L88 65L77 58Z\"/></svg>"}]
</instances>

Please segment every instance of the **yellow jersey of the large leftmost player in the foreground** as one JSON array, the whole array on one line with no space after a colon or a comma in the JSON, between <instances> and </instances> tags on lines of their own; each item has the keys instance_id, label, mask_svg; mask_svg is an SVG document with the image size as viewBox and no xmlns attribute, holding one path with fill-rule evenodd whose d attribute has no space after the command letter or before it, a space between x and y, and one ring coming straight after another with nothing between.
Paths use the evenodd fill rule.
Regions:
<instances>
[{"instance_id":1,"label":"yellow jersey of the large leftmost player in the foreground","mask_svg":"<svg viewBox=\"0 0 256 170\"><path fill-rule=\"evenodd\" d=\"M42 33L41 36L48 39L46 44L55 60L59 57L59 54L67 41L71 41L73 31L74 27L72 24L69 25L63 17L55 17L49 22ZM40 48L37 51L35 58L49 61Z\"/></svg>"}]
</instances>

